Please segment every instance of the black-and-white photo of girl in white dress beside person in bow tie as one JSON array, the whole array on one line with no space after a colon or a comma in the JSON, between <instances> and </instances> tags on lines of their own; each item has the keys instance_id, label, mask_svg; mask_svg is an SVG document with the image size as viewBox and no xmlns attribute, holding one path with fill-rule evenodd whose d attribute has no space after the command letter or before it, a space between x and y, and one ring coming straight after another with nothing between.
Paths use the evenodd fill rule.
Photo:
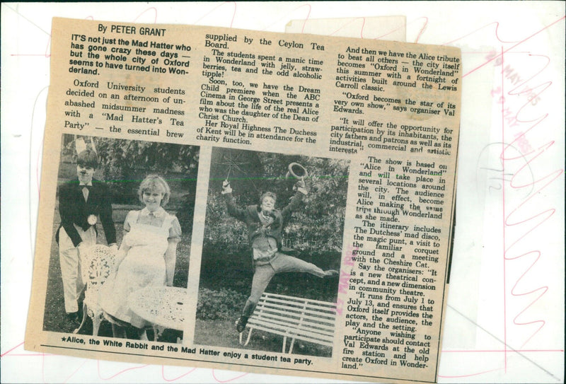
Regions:
<instances>
[{"instance_id":1,"label":"black-and-white photo of girl in white dress beside person in bow tie","mask_svg":"<svg viewBox=\"0 0 566 384\"><path fill-rule=\"evenodd\" d=\"M199 152L62 135L45 331L183 338Z\"/></svg>"}]
</instances>

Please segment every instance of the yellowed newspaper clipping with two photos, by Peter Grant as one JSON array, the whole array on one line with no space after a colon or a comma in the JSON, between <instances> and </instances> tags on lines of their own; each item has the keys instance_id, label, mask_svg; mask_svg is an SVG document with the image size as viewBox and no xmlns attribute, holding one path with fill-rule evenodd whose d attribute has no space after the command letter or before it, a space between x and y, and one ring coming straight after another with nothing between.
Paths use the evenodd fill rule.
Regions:
<instances>
[{"instance_id":1,"label":"yellowed newspaper clipping with two photos, by Peter Grant","mask_svg":"<svg viewBox=\"0 0 566 384\"><path fill-rule=\"evenodd\" d=\"M52 25L25 349L436 381L458 49Z\"/></svg>"}]
</instances>

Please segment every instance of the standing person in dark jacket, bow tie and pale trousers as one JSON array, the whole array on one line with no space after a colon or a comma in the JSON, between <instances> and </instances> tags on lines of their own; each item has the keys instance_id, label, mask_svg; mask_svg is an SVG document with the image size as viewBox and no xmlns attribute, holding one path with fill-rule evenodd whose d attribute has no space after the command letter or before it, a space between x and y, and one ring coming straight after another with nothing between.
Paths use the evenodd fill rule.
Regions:
<instances>
[{"instance_id":1,"label":"standing person in dark jacket, bow tie and pale trousers","mask_svg":"<svg viewBox=\"0 0 566 384\"><path fill-rule=\"evenodd\" d=\"M98 218L102 222L108 245L112 251L117 251L108 187L103 182L93 180L98 167L96 152L92 149L81 151L76 164L78 180L71 180L59 187L61 225L56 235L65 311L72 321L79 320L78 298L85 284L81 275L81 255L96 244Z\"/></svg>"}]
</instances>

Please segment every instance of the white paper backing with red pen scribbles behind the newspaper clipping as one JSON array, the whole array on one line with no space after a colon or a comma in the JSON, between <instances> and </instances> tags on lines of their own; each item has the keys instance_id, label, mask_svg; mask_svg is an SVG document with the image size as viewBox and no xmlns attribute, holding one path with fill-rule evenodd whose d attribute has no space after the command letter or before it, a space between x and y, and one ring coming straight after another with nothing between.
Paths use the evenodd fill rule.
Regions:
<instances>
[{"instance_id":1,"label":"white paper backing with red pen scribbles behind the newspaper clipping","mask_svg":"<svg viewBox=\"0 0 566 384\"><path fill-rule=\"evenodd\" d=\"M439 382L564 377L565 3L282 2L1 6L1 381L330 383L23 350L53 16L284 32L294 19L405 16L406 41L461 47L457 218Z\"/></svg>"}]
</instances>

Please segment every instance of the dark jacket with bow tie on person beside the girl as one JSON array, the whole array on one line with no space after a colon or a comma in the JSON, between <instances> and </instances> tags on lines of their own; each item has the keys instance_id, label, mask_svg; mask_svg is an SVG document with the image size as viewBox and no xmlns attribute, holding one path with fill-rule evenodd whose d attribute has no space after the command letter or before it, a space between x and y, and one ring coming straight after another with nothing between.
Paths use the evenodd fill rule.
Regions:
<instances>
[{"instance_id":1,"label":"dark jacket with bow tie on person beside the girl","mask_svg":"<svg viewBox=\"0 0 566 384\"><path fill-rule=\"evenodd\" d=\"M116 243L116 228L114 221L112 221L110 192L108 187L99 180L93 180L86 202L83 197L83 186L79 185L79 180L73 180L60 185L59 215L61 216L61 225L55 235L57 243L59 243L59 230L63 227L69 238L71 238L73 245L75 247L79 245L82 239L73 224L86 231L90 227L87 221L90 215L97 216L97 221L98 217L100 217L107 243Z\"/></svg>"}]
</instances>

